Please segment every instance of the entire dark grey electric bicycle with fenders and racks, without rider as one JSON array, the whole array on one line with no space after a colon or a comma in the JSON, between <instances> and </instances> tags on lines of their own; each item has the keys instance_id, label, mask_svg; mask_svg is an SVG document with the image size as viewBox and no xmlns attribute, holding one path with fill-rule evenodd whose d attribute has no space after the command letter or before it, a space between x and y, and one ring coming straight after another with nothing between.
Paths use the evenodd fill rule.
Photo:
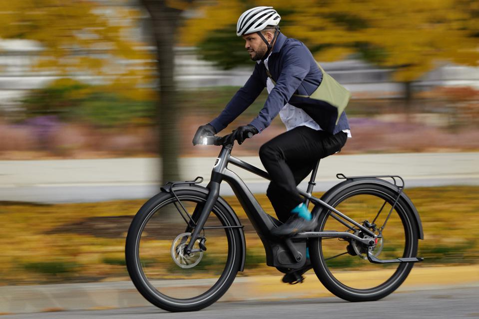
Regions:
<instances>
[{"instance_id":1,"label":"entire dark grey electric bicycle with fenders and racks, without rider","mask_svg":"<svg viewBox=\"0 0 479 319\"><path fill-rule=\"evenodd\" d=\"M316 221L319 221L319 224L321 225L317 226L317 229L322 230L330 216L332 216L331 219L334 217L341 222L337 226L342 228L344 224L348 226L348 229L344 232L308 231L298 233L289 238L280 238L272 235L271 232L275 229L275 227L281 225L281 222L268 215L263 210L251 191L245 185L244 181L235 172L228 169L228 165L231 163L232 165L243 168L267 180L271 180L271 176L269 176L264 170L232 157L231 150L233 148L233 144L227 144L228 142L224 141L224 137L220 138L213 136L211 137L211 140L213 140L213 143L210 144L215 144L217 146L222 145L223 147L212 168L211 181L207 187L195 185L203 181L203 177L199 176L194 180L167 182L161 187L160 193L150 198L138 210L138 213L133 218L133 221L128 229L125 243L125 260L128 274L130 275L135 287L143 295L143 297L145 297L155 306L175 312L195 311L207 307L217 301L226 292L226 290L233 283L238 271L244 270L246 260L246 236L244 231L241 229L244 226L241 224L238 216L236 216L231 205L229 205L223 198L219 197L220 184L222 181L226 181L232 187L254 229L262 240L266 253L266 264L268 266L276 267L280 272L285 273L285 276L283 277L283 282L285 283L287 282L295 284L303 282L304 277L302 274L313 267L317 277L321 280L324 286L338 297L355 302L373 301L383 298L396 290L411 271L413 265L410 263L420 262L423 260L423 258L420 257L412 257L417 253L418 239L423 239L423 230L416 208L409 197L402 192L404 188L404 180L400 176L377 175L347 177L342 174L337 174L338 178L345 180L328 190L321 197L321 200L312 196L313 186L315 185L314 180L316 178L319 165L318 161L318 165L316 165L316 167L313 169L307 190L304 191L298 189L298 191L304 196L306 204L308 204L310 201L315 204L312 212L313 218L316 219ZM208 141L205 141L205 144L208 144ZM274 176L272 177L274 178ZM381 177L392 177L394 184L381 179ZM401 179L403 181L402 185L397 185L395 178ZM369 220L364 220L361 222L361 225L334 207L331 207L331 205L337 207L346 207L341 209L349 211L349 207L351 205L345 204L343 206L341 203L353 196L363 194L375 196L374 198L379 198L381 201L384 200L384 204L382 204L380 207L376 217L374 217L372 220L372 223L370 223ZM181 198L185 199L183 203L180 200ZM193 212L191 212L192 208L190 208L191 206L189 204L186 204L186 201L193 202ZM358 200L355 198L348 203L351 202L363 202L363 199L361 198ZM379 205L370 205L369 200L365 200L364 202L368 208L376 208L376 206L379 207ZM331 205L328 203L331 203ZM377 228L375 221L383 211L386 203L391 204L391 210L389 211L383 225ZM391 216L395 205L397 205L397 216L401 220L400 222L403 225L405 236L403 245L403 239L397 238L398 236L394 236L395 234L392 232L393 236L391 236L391 238L398 239L399 245L395 245L393 243L391 247L393 247L394 251L396 251L404 246L404 251L402 254L403 257L388 260L379 259L378 256L382 251L383 241L377 244L376 240L378 238L383 238L382 230ZM163 213L163 215L161 215L161 212L168 212L168 209L173 209L173 206L178 210L179 214L186 223L177 223L176 220L171 223L171 226L175 227L171 227L173 230L171 234L176 234L177 232L174 229L178 229L178 227L180 230L180 235L177 235L173 240L170 250L171 258L173 261L175 261L177 266L181 268L187 268L188 266L194 267L198 264L197 262L199 262L201 255L197 256L197 259L195 260L189 260L188 256L185 256L184 253L189 255L192 253L201 252L202 254L202 252L206 251L206 234L208 233L208 235L210 235L212 233L208 231L208 229L223 229L225 232L224 234L222 233L222 235L225 235L223 236L222 241L219 241L219 237L216 237L214 233L211 234L212 236L210 237L211 241L214 242L214 245L211 246L211 250L213 252L210 257L214 258L215 260L218 259L217 256L220 257L219 261L221 263L224 262L224 269L218 273L218 270L221 269L221 267L219 267L219 263L213 263L212 265L208 265L210 264L209 261L203 263L203 266L201 266L201 269L199 269L201 273L199 278L204 278L205 273L203 270L206 270L206 274L215 274L214 277L217 277L217 279L209 278L211 276L206 276L208 277L208 280L206 280L208 286L210 284L212 286L205 292L202 292L203 289L198 291L198 296L191 297L191 293L181 293L179 292L179 289L177 291L176 288L171 291L171 281L151 281L151 279L160 279L156 276L148 275L151 273L156 275L160 262L166 263L164 266L159 267L162 269L167 269L167 278L175 278L175 269L169 268L171 261L169 258L165 258L164 255L159 255L157 258L153 259L154 263L152 264L154 266L149 268L151 269L150 271L145 272L144 269L145 266L147 266L147 263L145 263L144 260L153 258L153 256L149 255L150 251L156 253L157 250L161 250L162 247L155 246L155 249L153 250L147 248L147 252L143 254L141 251L144 251L144 249L142 250L141 247L144 247L144 245L141 246L141 239L144 239L143 242L149 242L149 244L146 245L147 247L151 247L150 244L152 241L150 236L161 235L163 230L166 230L166 228L170 227L166 226L166 228L157 230L157 224L153 224L151 228L148 228L145 231L146 224L161 208L168 207L165 208L165 210L161 210L157 215L159 216L159 221L162 221L164 219L162 217L164 217L165 214ZM356 205L353 206L356 207ZM354 209L353 207L351 208L351 211L353 210L359 210L359 213L363 213L361 208ZM385 211L387 211L387 209ZM214 221L211 220L212 224L210 225L208 217L212 212L217 218L214 219ZM367 213L368 216L371 215L370 209L368 209ZM352 213L350 214L352 215ZM364 216L364 214L361 215ZM383 220L383 216L380 219L381 221ZM359 218L362 217L358 217L358 219ZM390 224L398 226L398 218L395 218L396 222L391 222ZM208 226L206 226L207 219L209 221ZM335 223L335 221L333 223ZM186 229L184 227L186 227ZM328 226L328 228L335 228L335 226ZM371 230L378 233L378 235L376 236ZM222 231L220 230L220 232ZM144 237L142 236L143 234L148 233L150 235ZM200 233L202 233L202 236ZM163 235L169 237L171 234L169 232L165 232ZM226 240L224 240L224 237L226 237ZM332 240L333 243L331 243L331 241L322 241L321 238L338 238L343 239L343 241L336 242L336 240ZM157 239L164 241L163 237L153 238L155 242ZM323 245L329 243L332 244L332 249L329 249L331 247L327 247L327 245L325 245L323 249ZM344 247L345 245L348 246ZM227 248L227 254L225 254L225 251L223 250L225 246ZM311 252L310 259L306 258L307 246ZM193 247L195 248L193 249ZM377 247L379 247L379 249L376 250ZM396 247L398 247L398 249L396 249ZM219 248L219 250L216 250L216 248ZM337 252L338 248L341 253L333 253ZM326 258L324 253L326 253ZM346 254L357 256L361 259L368 259L369 262L376 264L402 263L406 265L401 265L401 267L398 267L392 276L385 274L386 276L384 276L384 279L386 279L386 281L378 286L376 286L377 282L375 279L371 282L371 285L373 285L371 288L364 289L362 285L359 288L355 288L340 282L338 278L331 273L329 270L330 267L326 263L328 260ZM367 257L365 254L367 254ZM328 255L334 256L329 257ZM226 259L224 258L225 256ZM184 257L186 257L186 259ZM158 266L156 265L157 263ZM205 266L213 267L210 268ZM366 267L365 269L367 273L364 275L367 277L370 275L369 268L370 267ZM381 267L377 269L380 271L380 273L382 273ZM179 271L180 277L183 278L185 274L184 270L180 269ZM194 274L192 275L193 276L191 279L193 281L188 280L186 285L180 286L184 286L184 288L187 290L190 289L191 285L196 286L197 283L195 283L196 281L194 280L195 276ZM379 277L380 280L383 281L381 276ZM188 276L188 278L190 278L190 276ZM204 280L200 279L200 281L203 282ZM178 286L177 288L181 287ZM173 292L174 295L168 296L170 292ZM196 293L196 290L194 290L194 293Z\"/></svg>"}]
</instances>

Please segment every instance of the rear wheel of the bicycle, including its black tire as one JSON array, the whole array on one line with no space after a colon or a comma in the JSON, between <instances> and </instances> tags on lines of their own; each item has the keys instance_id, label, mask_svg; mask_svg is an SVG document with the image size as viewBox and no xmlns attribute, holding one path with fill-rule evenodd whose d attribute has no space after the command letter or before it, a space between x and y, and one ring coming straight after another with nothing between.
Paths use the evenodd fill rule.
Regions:
<instances>
[{"instance_id":1,"label":"rear wheel of the bicycle, including its black tire","mask_svg":"<svg viewBox=\"0 0 479 319\"><path fill-rule=\"evenodd\" d=\"M364 220L372 222L380 211L381 204L385 204L376 221L379 227L389 214L397 196L397 192L381 185L360 184L340 191L328 200L328 204L360 224ZM373 210L373 207L376 209ZM346 231L347 227L331 217L329 212L324 209L321 213L317 231ZM364 216L361 217L362 215ZM377 257L416 257L417 229L411 207L400 198L384 228L384 246L381 251L378 245ZM354 242L354 246L351 242ZM337 297L351 302L375 301L388 296L404 282L414 266L414 263L372 264L360 257L365 256L364 248L351 240L310 239L309 249L314 271L322 284ZM341 253L343 255L335 257ZM344 269L348 272L344 272Z\"/></svg>"}]
</instances>

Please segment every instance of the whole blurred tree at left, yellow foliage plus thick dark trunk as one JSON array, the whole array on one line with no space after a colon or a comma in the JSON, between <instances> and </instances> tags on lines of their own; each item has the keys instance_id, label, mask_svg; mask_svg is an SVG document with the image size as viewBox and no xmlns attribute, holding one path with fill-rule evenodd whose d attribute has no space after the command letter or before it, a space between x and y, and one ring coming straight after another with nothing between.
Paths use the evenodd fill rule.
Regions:
<instances>
[{"instance_id":1,"label":"whole blurred tree at left, yellow foliage plus thick dark trunk","mask_svg":"<svg viewBox=\"0 0 479 319\"><path fill-rule=\"evenodd\" d=\"M161 71L158 72L161 94L155 95L155 91L148 89L148 85L153 82L152 76L155 75L151 72L155 65L149 65L155 63L154 56L129 33L137 27L140 14L137 8L131 6L130 1L120 1L119 5L111 6L111 3L88 0L0 0L0 38L39 42L42 49L35 65L37 71L51 71L49 74L62 77L100 76L109 84L107 91L120 93L133 100L149 100L159 96L156 114L162 142L160 155L163 157L160 177L165 181L178 176L172 50L176 25L182 11L176 6L182 3L140 2L152 16L153 33L158 47L156 66ZM57 97L61 104L54 105L47 111L54 109L53 112L58 114L61 108L65 109L65 103L78 104L78 101L65 102L62 98L63 89L64 87L47 92L59 93ZM35 102L33 100L26 102ZM97 107L101 106L104 110L105 96L96 103L96 107L93 107L95 110L91 107L84 109L85 116L97 117ZM91 106L91 103L87 105ZM38 109L36 111L39 112Z\"/></svg>"}]
</instances>

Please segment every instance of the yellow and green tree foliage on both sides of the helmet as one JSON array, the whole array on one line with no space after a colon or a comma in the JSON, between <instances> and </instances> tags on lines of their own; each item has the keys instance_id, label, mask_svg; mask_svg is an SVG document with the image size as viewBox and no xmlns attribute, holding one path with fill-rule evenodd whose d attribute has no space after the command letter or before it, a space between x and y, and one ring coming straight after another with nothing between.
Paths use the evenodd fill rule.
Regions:
<instances>
[{"instance_id":1,"label":"yellow and green tree foliage on both sides of the helmet","mask_svg":"<svg viewBox=\"0 0 479 319\"><path fill-rule=\"evenodd\" d=\"M283 32L303 41L318 61L356 54L394 68L395 79L405 83L407 101L411 83L438 63L479 61L477 0L297 0L294 6L286 0L198 3L199 13L186 21L182 41L197 45L203 58L223 68L250 63L236 57L244 48L234 29L241 12L256 5L274 5L282 16Z\"/></svg>"}]
</instances>

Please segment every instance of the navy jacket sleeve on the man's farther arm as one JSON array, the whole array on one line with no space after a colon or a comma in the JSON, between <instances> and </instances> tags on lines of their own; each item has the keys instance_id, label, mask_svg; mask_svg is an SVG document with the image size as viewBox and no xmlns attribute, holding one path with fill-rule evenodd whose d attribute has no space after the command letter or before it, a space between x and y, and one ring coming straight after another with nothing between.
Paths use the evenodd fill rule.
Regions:
<instances>
[{"instance_id":1,"label":"navy jacket sleeve on the man's farther arm","mask_svg":"<svg viewBox=\"0 0 479 319\"><path fill-rule=\"evenodd\" d=\"M216 133L226 128L228 124L243 113L265 88L260 72L260 67L262 66L258 63L255 64L253 74L251 74L245 85L236 92L220 115L209 123L214 127Z\"/></svg>"}]
</instances>

